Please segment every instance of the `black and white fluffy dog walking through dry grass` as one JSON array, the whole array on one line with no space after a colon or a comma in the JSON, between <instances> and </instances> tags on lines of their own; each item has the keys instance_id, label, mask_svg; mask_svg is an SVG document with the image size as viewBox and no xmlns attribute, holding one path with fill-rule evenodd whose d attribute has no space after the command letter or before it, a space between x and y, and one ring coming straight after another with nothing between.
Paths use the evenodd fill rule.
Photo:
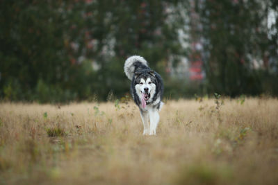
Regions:
<instances>
[{"instance_id":1,"label":"black and white fluffy dog walking through dry grass","mask_svg":"<svg viewBox=\"0 0 278 185\"><path fill-rule=\"evenodd\" d=\"M155 135L159 121L158 112L163 106L162 78L148 67L144 58L136 55L126 59L124 73L131 80L131 95L140 109L143 134Z\"/></svg>"}]
</instances>

